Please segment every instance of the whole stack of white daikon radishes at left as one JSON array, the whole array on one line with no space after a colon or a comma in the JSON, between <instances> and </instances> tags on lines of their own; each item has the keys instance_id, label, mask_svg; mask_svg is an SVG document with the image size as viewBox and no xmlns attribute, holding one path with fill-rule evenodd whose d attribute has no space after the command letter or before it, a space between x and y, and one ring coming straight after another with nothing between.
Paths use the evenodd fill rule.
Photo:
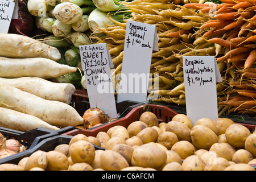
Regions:
<instances>
[{"instance_id":1,"label":"whole stack of white daikon radishes at left","mask_svg":"<svg viewBox=\"0 0 256 182\"><path fill-rule=\"evenodd\" d=\"M58 130L84 119L70 104L75 86L49 78L76 72L57 63L58 49L17 34L0 34L0 126L27 131Z\"/></svg>"}]
</instances>

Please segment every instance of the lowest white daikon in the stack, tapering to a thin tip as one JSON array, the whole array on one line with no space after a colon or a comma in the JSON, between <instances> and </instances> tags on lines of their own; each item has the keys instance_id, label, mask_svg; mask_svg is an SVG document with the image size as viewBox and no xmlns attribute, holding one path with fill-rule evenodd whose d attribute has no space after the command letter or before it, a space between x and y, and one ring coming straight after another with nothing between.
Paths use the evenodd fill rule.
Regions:
<instances>
[{"instance_id":1,"label":"lowest white daikon in the stack, tapering to a thin tip","mask_svg":"<svg viewBox=\"0 0 256 182\"><path fill-rule=\"evenodd\" d=\"M58 127L49 125L47 122L35 117L34 115L20 113L12 109L0 107L0 126L7 129L28 131L37 127L59 130Z\"/></svg>"}]
</instances>

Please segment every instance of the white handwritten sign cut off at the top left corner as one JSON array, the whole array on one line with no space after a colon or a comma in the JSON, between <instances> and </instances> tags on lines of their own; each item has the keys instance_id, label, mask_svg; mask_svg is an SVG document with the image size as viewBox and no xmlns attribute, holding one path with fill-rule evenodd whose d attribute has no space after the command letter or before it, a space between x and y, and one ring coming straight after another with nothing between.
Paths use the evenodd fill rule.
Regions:
<instances>
[{"instance_id":1,"label":"white handwritten sign cut off at the top left corner","mask_svg":"<svg viewBox=\"0 0 256 182\"><path fill-rule=\"evenodd\" d=\"M13 0L0 0L0 33L8 33L14 6L15 2Z\"/></svg>"}]
</instances>

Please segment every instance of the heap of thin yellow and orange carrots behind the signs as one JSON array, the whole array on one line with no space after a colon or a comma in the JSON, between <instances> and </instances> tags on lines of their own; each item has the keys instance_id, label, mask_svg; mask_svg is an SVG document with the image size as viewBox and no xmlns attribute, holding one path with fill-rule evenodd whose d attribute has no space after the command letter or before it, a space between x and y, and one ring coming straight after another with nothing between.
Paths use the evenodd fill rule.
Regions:
<instances>
[{"instance_id":1,"label":"heap of thin yellow and orange carrots behind the signs","mask_svg":"<svg viewBox=\"0 0 256 182\"><path fill-rule=\"evenodd\" d=\"M216 85L219 115L227 112L255 115L256 3L255 0L221 2L134 0L124 3L131 11L130 20L156 26L159 51L152 53L152 88L148 97L155 94L159 97L152 101L184 105L182 56L209 55L216 56L224 80ZM126 23L114 23L98 28L92 38L108 45L118 89ZM97 36L102 33L105 36Z\"/></svg>"}]
</instances>

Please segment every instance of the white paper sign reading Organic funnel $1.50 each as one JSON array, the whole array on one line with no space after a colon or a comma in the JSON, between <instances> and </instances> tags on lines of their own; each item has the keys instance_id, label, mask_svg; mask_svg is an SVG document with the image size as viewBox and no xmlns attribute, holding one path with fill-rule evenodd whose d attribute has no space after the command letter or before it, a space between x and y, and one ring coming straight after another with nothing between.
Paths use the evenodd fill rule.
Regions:
<instances>
[{"instance_id":1,"label":"white paper sign reading Organic funnel $1.50 each","mask_svg":"<svg viewBox=\"0 0 256 182\"><path fill-rule=\"evenodd\" d=\"M152 51L158 51L156 27L127 20L117 102L146 103Z\"/></svg>"}]
</instances>

